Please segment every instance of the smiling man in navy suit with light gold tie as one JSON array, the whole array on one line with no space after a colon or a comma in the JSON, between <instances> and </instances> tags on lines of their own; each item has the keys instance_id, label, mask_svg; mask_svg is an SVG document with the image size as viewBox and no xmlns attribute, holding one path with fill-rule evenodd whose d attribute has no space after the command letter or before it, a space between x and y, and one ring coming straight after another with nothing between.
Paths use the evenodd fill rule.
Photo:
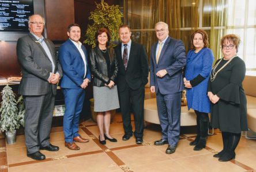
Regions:
<instances>
[{"instance_id":1,"label":"smiling man in navy suit with light gold tie","mask_svg":"<svg viewBox=\"0 0 256 172\"><path fill-rule=\"evenodd\" d=\"M163 136L155 145L168 143L165 151L176 150L180 133L181 92L184 89L182 68L186 65L185 48L180 40L168 36L168 25L155 25L158 42L150 53L150 90L156 92L157 112Z\"/></svg>"}]
</instances>

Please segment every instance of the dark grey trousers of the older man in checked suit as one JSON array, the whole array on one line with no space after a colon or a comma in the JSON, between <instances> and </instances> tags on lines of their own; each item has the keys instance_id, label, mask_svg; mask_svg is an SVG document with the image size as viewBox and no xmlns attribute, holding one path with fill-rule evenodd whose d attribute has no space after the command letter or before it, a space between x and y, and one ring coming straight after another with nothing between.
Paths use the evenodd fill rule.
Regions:
<instances>
[{"instance_id":1,"label":"dark grey trousers of the older man in checked suit","mask_svg":"<svg viewBox=\"0 0 256 172\"><path fill-rule=\"evenodd\" d=\"M23 96L25 105L25 143L27 153L39 151L50 144L50 131L55 97L52 92L42 96Z\"/></svg>"}]
</instances>

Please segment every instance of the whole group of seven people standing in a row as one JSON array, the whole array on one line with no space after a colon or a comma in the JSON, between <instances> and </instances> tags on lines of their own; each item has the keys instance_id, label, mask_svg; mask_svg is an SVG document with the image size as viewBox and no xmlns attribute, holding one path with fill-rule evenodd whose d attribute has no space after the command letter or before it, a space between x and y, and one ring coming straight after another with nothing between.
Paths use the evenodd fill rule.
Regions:
<instances>
[{"instance_id":1,"label":"whole group of seven people standing in a row","mask_svg":"<svg viewBox=\"0 0 256 172\"><path fill-rule=\"evenodd\" d=\"M106 140L118 142L110 135L110 111L119 107L125 131L122 140L134 135L135 143L143 143L144 86L148 83L149 64L144 46L131 41L129 26L120 26L121 43L115 49L108 47L109 30L99 28L95 33L96 47L88 53L79 41L80 26L71 24L67 28L69 39L60 46L56 57L54 44L42 36L44 23L42 16L31 15L28 19L30 33L17 42L22 67L18 93L24 97L28 157L43 160L46 157L39 150L59 150L50 143L58 83L65 96L65 146L79 150L76 142L89 142L78 134L78 124L85 88L92 78L100 144L106 144ZM224 57L217 60L212 69L214 57L204 30L196 30L191 35L191 50L187 56L183 42L168 36L167 24L157 22L155 31L158 41L150 52L150 91L156 93L162 137L154 144L168 144L165 153L175 152L180 134L181 93L186 88L188 107L197 115L197 137L190 145L195 146L194 150L205 147L210 112L212 126L220 128L224 144L223 150L214 157L219 161L235 158L240 133L247 130L246 97L242 88L245 65L236 56L239 38L230 34L221 39Z\"/></svg>"}]
</instances>

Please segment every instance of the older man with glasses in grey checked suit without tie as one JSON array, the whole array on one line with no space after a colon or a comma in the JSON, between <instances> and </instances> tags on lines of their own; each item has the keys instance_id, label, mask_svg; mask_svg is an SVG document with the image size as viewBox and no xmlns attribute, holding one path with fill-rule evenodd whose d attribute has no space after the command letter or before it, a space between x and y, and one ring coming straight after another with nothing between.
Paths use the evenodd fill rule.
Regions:
<instances>
[{"instance_id":1,"label":"older man with glasses in grey checked suit without tie","mask_svg":"<svg viewBox=\"0 0 256 172\"><path fill-rule=\"evenodd\" d=\"M40 150L58 151L50 143L52 115L57 83L62 76L61 65L55 56L54 44L42 36L44 18L28 18L30 33L17 42L17 56L22 68L18 93L25 104L25 143L28 157L43 160Z\"/></svg>"}]
</instances>

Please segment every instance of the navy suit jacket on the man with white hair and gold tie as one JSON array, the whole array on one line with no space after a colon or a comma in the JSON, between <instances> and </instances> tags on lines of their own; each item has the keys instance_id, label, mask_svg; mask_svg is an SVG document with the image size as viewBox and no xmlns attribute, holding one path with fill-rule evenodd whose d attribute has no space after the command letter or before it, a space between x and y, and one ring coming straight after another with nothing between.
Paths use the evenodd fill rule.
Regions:
<instances>
[{"instance_id":1,"label":"navy suit jacket on the man with white hair and gold tie","mask_svg":"<svg viewBox=\"0 0 256 172\"><path fill-rule=\"evenodd\" d=\"M156 64L156 48L158 42L152 45L150 53L150 86L155 86L156 93L167 95L183 91L182 68L186 65L185 47L181 40L168 37L161 50ZM156 73L166 69L167 75L157 77Z\"/></svg>"}]
</instances>

